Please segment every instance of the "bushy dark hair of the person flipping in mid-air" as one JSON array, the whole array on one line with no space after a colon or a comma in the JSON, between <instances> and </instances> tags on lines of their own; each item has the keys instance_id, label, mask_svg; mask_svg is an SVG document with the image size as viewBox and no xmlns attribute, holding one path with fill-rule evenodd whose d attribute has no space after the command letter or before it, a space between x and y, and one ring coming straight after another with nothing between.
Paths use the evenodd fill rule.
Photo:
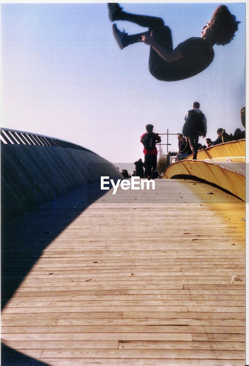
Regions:
<instances>
[{"instance_id":1,"label":"bushy dark hair of the person flipping in mid-air","mask_svg":"<svg viewBox=\"0 0 249 366\"><path fill-rule=\"evenodd\" d=\"M235 15L231 14L226 5L219 5L212 16L210 30L213 41L217 45L226 45L233 40L234 33L238 30Z\"/></svg>"}]
</instances>

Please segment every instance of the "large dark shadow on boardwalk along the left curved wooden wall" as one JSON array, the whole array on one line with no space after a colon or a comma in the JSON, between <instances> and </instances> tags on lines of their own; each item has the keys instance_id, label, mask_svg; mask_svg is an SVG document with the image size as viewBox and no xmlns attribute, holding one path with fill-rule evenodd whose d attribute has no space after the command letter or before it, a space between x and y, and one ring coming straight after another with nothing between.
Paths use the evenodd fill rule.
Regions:
<instances>
[{"instance_id":1,"label":"large dark shadow on boardwalk along the left curved wooden wall","mask_svg":"<svg viewBox=\"0 0 249 366\"><path fill-rule=\"evenodd\" d=\"M87 184L43 203L1 227L1 308L39 259L42 251L88 206L107 191Z\"/></svg>"}]
</instances>

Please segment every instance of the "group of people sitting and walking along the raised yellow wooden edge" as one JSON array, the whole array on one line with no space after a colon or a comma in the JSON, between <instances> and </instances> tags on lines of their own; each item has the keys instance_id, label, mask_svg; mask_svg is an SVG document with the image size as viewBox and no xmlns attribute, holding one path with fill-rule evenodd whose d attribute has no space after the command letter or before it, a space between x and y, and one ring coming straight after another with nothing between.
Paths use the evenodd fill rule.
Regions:
<instances>
[{"instance_id":1,"label":"group of people sitting and walking along the raised yellow wooden edge","mask_svg":"<svg viewBox=\"0 0 249 366\"><path fill-rule=\"evenodd\" d=\"M245 107L241 109L240 116L242 126L245 128ZM227 134L223 128L218 128L218 137L215 141L211 141L210 138L206 138L207 145L201 145L200 143L198 143L199 137L202 136L204 138L207 133L207 119L200 110L199 102L193 103L193 109L186 113L184 120L185 123L182 128L182 134L177 134L179 149L177 154L177 161L185 159L190 154L193 154L193 160L196 160L197 152L199 150L218 145L219 143L245 138L245 130L241 131L240 128L236 128L234 134Z\"/></svg>"}]
</instances>

